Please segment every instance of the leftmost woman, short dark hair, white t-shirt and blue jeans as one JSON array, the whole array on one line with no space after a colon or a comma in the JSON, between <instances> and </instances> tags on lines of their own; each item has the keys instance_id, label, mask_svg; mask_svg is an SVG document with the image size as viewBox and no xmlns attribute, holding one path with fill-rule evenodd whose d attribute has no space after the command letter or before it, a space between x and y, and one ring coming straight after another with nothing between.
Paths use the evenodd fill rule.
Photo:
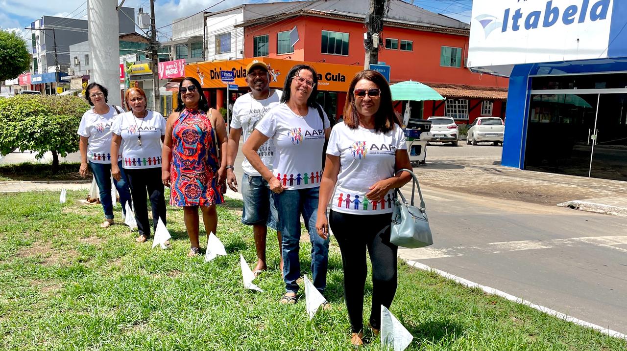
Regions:
<instances>
[{"instance_id":1,"label":"leftmost woman, short dark hair, white t-shirt and blue jeans","mask_svg":"<svg viewBox=\"0 0 627 351\"><path fill-rule=\"evenodd\" d=\"M80 142L80 168L78 173L85 178L87 168L92 169L100 190L100 203L105 212L105 221L101 228L108 228L113 224L113 202L111 198L111 165L117 163L122 167L122 155L111 153L111 127L119 118L119 114L124 111L120 106L108 105L108 90L98 83L92 83L85 89L85 99L93 106L83 114L78 126ZM120 172L119 179L113 179L113 184L120 195L122 212L126 215L125 205L130 205L130 191L123 171Z\"/></svg>"}]
</instances>

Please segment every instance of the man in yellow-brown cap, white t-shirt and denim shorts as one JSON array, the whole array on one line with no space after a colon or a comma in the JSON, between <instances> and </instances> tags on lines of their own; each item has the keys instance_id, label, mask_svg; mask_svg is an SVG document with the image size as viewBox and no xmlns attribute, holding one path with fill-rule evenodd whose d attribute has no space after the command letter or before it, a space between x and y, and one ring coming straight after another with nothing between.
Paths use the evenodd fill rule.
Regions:
<instances>
[{"instance_id":1,"label":"man in yellow-brown cap, white t-shirt and denim shorts","mask_svg":"<svg viewBox=\"0 0 627 351\"><path fill-rule=\"evenodd\" d=\"M240 137L248 140L256 125L261 121L266 112L277 106L281 99L281 91L270 89L270 73L268 66L261 61L253 61L246 67L246 83L251 92L244 94L235 100L233 104L233 116L231 119L231 131L229 133L228 151L226 155L226 183L233 191L238 191L238 183L233 172L234 161L237 156ZM257 151L264 165L272 169L272 160L275 156L273 140L268 140ZM266 235L268 226L274 230L278 228L278 214L275 208L273 193L268 188L268 182L263 179L258 171L244 158L241 163L244 175L242 176L241 194L244 200L242 223L253 226L255 236L255 248L257 252L257 264L253 273L255 276L266 270ZM281 232L277 231L279 247L281 245ZM281 250L279 250L281 252ZM283 258L279 261L280 270L283 272Z\"/></svg>"}]
</instances>

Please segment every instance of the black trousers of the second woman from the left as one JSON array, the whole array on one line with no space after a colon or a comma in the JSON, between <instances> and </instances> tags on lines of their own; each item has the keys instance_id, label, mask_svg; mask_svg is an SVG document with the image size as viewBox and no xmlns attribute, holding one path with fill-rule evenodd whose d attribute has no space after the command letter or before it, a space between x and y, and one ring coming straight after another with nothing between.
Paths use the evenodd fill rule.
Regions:
<instances>
[{"instance_id":1,"label":"black trousers of the second woman from the left","mask_svg":"<svg viewBox=\"0 0 627 351\"><path fill-rule=\"evenodd\" d=\"M148 221L148 206L146 195L150 196L152 206L152 230L157 230L159 218L166 224L166 200L163 197L163 183L161 181L161 167L145 168L143 170L125 168L129 178L130 195L135 205L135 220L139 235L150 238L150 223Z\"/></svg>"}]
</instances>

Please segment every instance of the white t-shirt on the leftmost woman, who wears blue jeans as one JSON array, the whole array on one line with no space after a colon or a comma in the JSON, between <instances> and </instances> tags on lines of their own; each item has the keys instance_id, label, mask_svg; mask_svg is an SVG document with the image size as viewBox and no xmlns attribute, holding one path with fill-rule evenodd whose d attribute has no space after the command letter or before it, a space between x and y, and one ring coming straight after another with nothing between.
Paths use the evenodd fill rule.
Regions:
<instances>
[{"instance_id":1,"label":"white t-shirt on the leftmost woman, who wears blue jeans","mask_svg":"<svg viewBox=\"0 0 627 351\"><path fill-rule=\"evenodd\" d=\"M120 106L115 106L120 113L124 112ZM111 126L118 117L113 106L105 114L95 113L92 109L83 113L78 126L78 135L88 138L87 160L93 163L111 163ZM115 156L113 157L115 159ZM119 153L117 160L122 160Z\"/></svg>"}]
</instances>

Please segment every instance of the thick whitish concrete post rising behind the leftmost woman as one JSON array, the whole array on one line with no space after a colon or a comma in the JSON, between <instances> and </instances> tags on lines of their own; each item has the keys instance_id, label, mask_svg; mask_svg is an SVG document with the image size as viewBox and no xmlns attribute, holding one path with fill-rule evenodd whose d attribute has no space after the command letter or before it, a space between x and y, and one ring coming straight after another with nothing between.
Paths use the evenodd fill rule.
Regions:
<instances>
[{"instance_id":1,"label":"thick whitish concrete post rising behind the leftmost woman","mask_svg":"<svg viewBox=\"0 0 627 351\"><path fill-rule=\"evenodd\" d=\"M117 0L87 1L90 83L108 89L108 104L122 106L120 94L120 36Z\"/></svg>"}]
</instances>

